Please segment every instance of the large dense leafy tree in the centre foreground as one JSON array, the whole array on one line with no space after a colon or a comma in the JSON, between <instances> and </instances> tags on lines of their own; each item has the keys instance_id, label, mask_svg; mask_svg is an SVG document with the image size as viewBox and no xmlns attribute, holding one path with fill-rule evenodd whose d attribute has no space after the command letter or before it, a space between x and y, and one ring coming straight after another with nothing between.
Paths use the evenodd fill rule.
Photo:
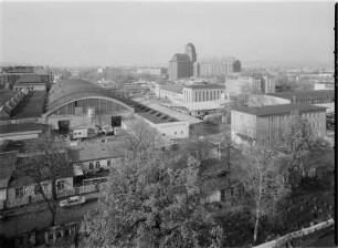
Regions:
<instances>
[{"instance_id":1,"label":"large dense leafy tree in the centre foreground","mask_svg":"<svg viewBox=\"0 0 338 248\"><path fill-rule=\"evenodd\" d=\"M84 247L221 247L222 229L201 205L199 162L160 151L129 154L85 216Z\"/></svg>"}]
</instances>

